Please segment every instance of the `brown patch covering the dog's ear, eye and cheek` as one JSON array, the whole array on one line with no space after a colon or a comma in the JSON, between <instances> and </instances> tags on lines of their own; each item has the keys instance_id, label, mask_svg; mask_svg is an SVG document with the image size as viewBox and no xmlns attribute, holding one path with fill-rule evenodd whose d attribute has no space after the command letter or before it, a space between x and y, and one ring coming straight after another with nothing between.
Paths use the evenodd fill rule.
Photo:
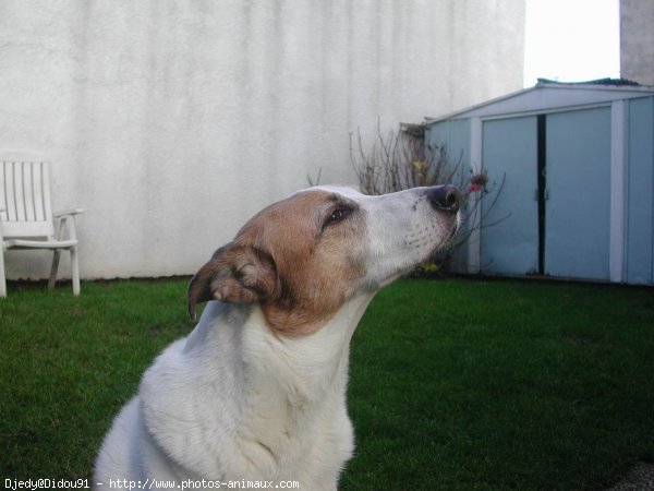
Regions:
<instances>
[{"instance_id":1,"label":"brown patch covering the dog's ear, eye and cheek","mask_svg":"<svg viewBox=\"0 0 654 491\"><path fill-rule=\"evenodd\" d=\"M314 332L364 274L364 217L328 191L295 194L259 212L216 251L189 286L189 313L207 300L259 303L286 335Z\"/></svg>"}]
</instances>

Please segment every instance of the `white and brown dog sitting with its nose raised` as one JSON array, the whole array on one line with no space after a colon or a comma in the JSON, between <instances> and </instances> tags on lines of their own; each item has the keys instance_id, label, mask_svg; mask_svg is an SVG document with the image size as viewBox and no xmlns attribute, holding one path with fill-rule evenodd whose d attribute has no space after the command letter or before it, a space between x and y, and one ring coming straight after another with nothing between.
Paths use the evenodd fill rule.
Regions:
<instances>
[{"instance_id":1,"label":"white and brown dog sitting with its nose raised","mask_svg":"<svg viewBox=\"0 0 654 491\"><path fill-rule=\"evenodd\" d=\"M191 318L208 302L199 322L143 375L94 483L336 490L354 448L352 334L379 288L448 243L458 200L451 185L380 196L316 187L256 214L192 278Z\"/></svg>"}]
</instances>

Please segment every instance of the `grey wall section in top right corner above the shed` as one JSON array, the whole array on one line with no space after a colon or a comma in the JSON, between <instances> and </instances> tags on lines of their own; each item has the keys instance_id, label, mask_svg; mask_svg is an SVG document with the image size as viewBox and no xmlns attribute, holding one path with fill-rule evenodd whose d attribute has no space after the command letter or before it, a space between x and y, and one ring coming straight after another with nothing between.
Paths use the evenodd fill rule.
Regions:
<instances>
[{"instance_id":1,"label":"grey wall section in top right corner above the shed","mask_svg":"<svg viewBox=\"0 0 654 491\"><path fill-rule=\"evenodd\" d=\"M654 2L620 0L620 75L654 85Z\"/></svg>"}]
</instances>

